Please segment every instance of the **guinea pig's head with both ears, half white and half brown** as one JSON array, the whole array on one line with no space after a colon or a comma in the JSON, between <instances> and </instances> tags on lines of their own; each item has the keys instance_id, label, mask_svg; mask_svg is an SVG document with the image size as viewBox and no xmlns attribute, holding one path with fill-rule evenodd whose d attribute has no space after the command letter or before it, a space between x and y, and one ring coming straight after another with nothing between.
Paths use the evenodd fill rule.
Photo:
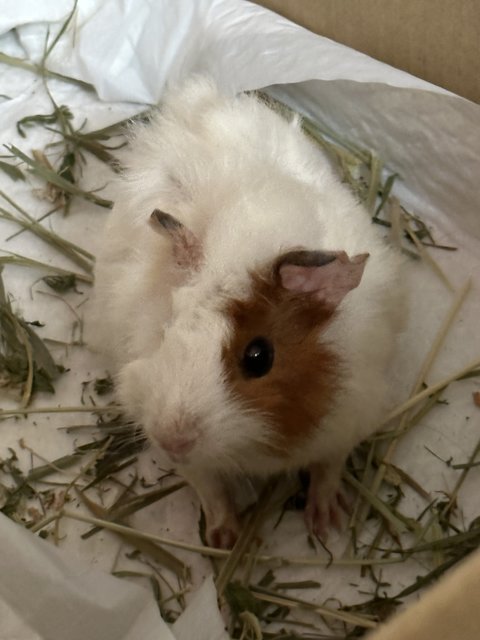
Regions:
<instances>
[{"instance_id":1,"label":"guinea pig's head with both ears, half white and half brown","mask_svg":"<svg viewBox=\"0 0 480 640\"><path fill-rule=\"evenodd\" d=\"M158 350L120 372L120 400L166 465L288 466L341 387L340 356L322 331L360 283L367 254L291 251L245 273L237 297L231 280L226 288L202 267L194 236L175 219L163 223L176 259L196 275L173 292Z\"/></svg>"}]
</instances>

